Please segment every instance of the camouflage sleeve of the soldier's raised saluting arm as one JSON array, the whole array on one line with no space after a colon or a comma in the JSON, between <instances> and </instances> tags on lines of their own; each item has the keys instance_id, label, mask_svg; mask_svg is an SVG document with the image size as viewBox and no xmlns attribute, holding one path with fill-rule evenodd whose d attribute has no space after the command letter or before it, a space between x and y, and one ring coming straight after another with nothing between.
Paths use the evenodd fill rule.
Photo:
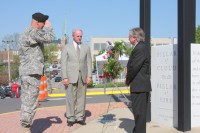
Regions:
<instances>
[{"instance_id":1,"label":"camouflage sleeve of the soldier's raised saluting arm","mask_svg":"<svg viewBox=\"0 0 200 133\"><path fill-rule=\"evenodd\" d=\"M30 31L29 39L30 45L36 43L51 43L54 40L53 28L49 27L46 30L33 29Z\"/></svg>"}]
</instances>

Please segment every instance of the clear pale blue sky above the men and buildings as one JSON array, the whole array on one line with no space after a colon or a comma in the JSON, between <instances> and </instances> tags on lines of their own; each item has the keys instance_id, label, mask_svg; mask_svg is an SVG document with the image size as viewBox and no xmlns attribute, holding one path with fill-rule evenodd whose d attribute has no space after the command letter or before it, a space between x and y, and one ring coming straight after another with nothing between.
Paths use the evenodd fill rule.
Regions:
<instances>
[{"instance_id":1,"label":"clear pale blue sky above the men and buildings","mask_svg":"<svg viewBox=\"0 0 200 133\"><path fill-rule=\"evenodd\" d=\"M21 33L30 25L31 15L50 16L57 37L62 35L65 20L67 33L81 28L83 40L92 37L128 37L139 26L140 0L2 0L0 40ZM151 36L177 37L177 0L151 0ZM196 25L200 25L200 0L196 0Z\"/></svg>"}]
</instances>

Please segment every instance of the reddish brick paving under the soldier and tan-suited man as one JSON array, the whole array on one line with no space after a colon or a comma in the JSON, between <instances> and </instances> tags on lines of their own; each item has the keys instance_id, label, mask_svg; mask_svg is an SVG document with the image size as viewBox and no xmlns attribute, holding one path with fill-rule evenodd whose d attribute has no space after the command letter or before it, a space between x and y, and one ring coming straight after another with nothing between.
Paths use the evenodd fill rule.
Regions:
<instances>
[{"instance_id":1,"label":"reddish brick paving under the soldier and tan-suited man","mask_svg":"<svg viewBox=\"0 0 200 133\"><path fill-rule=\"evenodd\" d=\"M127 108L122 102L86 104L86 123L115 108ZM81 125L68 127L64 117L65 106L38 108L31 127L32 133L69 133ZM20 112L0 114L0 133L20 133Z\"/></svg>"}]
</instances>

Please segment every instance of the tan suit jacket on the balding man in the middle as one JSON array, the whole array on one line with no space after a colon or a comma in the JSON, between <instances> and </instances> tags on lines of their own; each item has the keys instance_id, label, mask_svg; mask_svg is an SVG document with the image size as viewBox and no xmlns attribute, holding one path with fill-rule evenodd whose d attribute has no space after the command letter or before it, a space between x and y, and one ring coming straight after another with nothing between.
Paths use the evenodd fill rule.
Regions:
<instances>
[{"instance_id":1,"label":"tan suit jacket on the balding man in the middle","mask_svg":"<svg viewBox=\"0 0 200 133\"><path fill-rule=\"evenodd\" d=\"M81 44L80 60L73 43L67 44L62 49L61 54L61 73L62 78L68 78L69 83L77 83L79 71L83 82L86 83L87 77L92 77L92 58L88 45Z\"/></svg>"}]
</instances>

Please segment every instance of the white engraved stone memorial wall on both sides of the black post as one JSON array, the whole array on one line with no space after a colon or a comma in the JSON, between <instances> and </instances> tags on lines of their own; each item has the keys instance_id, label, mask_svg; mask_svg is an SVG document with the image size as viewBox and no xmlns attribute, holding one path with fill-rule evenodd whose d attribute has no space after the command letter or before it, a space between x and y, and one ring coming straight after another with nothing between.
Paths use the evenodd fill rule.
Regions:
<instances>
[{"instance_id":1,"label":"white engraved stone memorial wall on both sides of the black post","mask_svg":"<svg viewBox=\"0 0 200 133\"><path fill-rule=\"evenodd\" d=\"M178 125L177 45L151 47L152 121ZM188 77L189 79L189 77ZM191 44L191 127L200 126L200 44Z\"/></svg>"}]
</instances>

